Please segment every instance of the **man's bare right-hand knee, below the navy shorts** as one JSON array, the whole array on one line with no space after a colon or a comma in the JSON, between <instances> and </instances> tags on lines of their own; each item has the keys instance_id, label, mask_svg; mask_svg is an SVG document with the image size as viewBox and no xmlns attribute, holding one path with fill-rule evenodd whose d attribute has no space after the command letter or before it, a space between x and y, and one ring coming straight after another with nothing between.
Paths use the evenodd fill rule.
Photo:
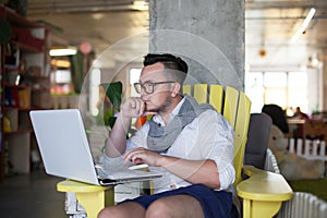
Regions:
<instances>
[{"instance_id":1,"label":"man's bare right-hand knee, below the navy shorts","mask_svg":"<svg viewBox=\"0 0 327 218\"><path fill-rule=\"evenodd\" d=\"M204 218L199 202L191 195L174 195L155 201L146 218Z\"/></svg>"}]
</instances>

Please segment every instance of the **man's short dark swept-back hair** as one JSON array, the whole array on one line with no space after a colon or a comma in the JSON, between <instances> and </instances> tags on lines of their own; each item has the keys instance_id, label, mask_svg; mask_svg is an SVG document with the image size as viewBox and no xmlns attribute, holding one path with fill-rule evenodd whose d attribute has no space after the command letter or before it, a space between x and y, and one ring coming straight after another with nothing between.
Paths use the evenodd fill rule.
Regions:
<instances>
[{"instance_id":1,"label":"man's short dark swept-back hair","mask_svg":"<svg viewBox=\"0 0 327 218\"><path fill-rule=\"evenodd\" d=\"M172 80L175 80L177 82L183 84L189 70L189 66L185 61L171 53L148 53L144 57L143 65L147 66L158 62L162 63L165 65L165 69L181 72L173 73L170 76Z\"/></svg>"}]
</instances>

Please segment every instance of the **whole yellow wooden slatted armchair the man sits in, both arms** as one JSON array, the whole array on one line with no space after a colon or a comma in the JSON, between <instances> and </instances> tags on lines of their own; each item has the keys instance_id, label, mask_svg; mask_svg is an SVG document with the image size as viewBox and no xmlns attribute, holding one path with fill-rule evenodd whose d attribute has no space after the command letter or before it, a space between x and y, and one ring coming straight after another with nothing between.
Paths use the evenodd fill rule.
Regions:
<instances>
[{"instance_id":1,"label":"whole yellow wooden slatted armchair the man sits in, both arms","mask_svg":"<svg viewBox=\"0 0 327 218\"><path fill-rule=\"evenodd\" d=\"M184 85L184 94L193 96L199 104L209 102L233 126L234 168L238 195L243 198L243 217L272 217L283 201L292 197L292 190L282 175L243 167L251 101L244 93L221 85L196 84ZM242 181L242 170L250 179ZM113 187L89 185L65 180L59 182L60 192L75 192L78 202L84 206L87 216L94 218L105 206L113 204Z\"/></svg>"}]
</instances>

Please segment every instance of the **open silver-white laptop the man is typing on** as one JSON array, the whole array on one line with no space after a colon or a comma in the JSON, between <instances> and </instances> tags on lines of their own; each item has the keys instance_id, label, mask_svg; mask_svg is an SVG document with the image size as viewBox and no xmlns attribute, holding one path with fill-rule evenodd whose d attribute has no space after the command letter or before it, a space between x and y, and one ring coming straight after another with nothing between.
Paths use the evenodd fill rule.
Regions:
<instances>
[{"instance_id":1,"label":"open silver-white laptop the man is typing on","mask_svg":"<svg viewBox=\"0 0 327 218\"><path fill-rule=\"evenodd\" d=\"M129 168L107 172L96 166L78 109L32 110L29 117L48 174L97 185L161 177L157 172Z\"/></svg>"}]
</instances>

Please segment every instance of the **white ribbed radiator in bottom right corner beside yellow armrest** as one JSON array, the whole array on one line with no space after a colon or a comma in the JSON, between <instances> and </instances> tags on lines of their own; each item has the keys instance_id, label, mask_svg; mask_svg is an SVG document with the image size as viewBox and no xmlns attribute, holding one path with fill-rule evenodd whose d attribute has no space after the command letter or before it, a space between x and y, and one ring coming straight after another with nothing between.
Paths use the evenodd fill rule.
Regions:
<instances>
[{"instance_id":1,"label":"white ribbed radiator in bottom right corner beside yellow armrest","mask_svg":"<svg viewBox=\"0 0 327 218\"><path fill-rule=\"evenodd\" d=\"M327 203L317 196L294 192L293 198L284 202L276 218L326 218Z\"/></svg>"}]
</instances>

